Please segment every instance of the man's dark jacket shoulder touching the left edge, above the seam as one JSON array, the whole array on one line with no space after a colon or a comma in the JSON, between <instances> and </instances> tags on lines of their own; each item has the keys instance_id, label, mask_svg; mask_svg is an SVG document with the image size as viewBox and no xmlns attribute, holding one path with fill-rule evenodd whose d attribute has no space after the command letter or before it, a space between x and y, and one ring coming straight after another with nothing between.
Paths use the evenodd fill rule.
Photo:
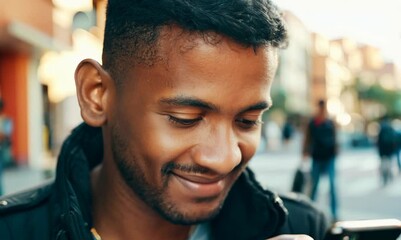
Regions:
<instances>
[{"instance_id":1,"label":"man's dark jacket shoulder touching the left edge, above the seam","mask_svg":"<svg viewBox=\"0 0 401 240\"><path fill-rule=\"evenodd\" d=\"M53 180L22 192L0 197L0 216L40 205L49 198L52 186Z\"/></svg>"}]
</instances>

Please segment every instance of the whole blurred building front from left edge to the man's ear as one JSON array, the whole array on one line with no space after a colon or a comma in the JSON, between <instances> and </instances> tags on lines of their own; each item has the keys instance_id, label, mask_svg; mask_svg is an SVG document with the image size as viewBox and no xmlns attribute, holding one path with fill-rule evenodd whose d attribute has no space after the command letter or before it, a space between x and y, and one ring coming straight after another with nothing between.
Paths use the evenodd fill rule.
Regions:
<instances>
[{"instance_id":1,"label":"whole blurred building front from left edge to the man's ear","mask_svg":"<svg viewBox=\"0 0 401 240\"><path fill-rule=\"evenodd\" d=\"M0 0L0 96L14 163L46 168L82 121L74 70L101 61L106 1ZM53 163L50 163L53 164Z\"/></svg>"}]
</instances>

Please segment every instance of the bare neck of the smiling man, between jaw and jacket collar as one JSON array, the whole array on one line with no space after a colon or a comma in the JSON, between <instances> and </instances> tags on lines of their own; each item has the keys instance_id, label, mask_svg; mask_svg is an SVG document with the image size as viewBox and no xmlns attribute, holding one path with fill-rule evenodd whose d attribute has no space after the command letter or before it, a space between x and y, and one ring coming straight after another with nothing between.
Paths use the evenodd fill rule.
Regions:
<instances>
[{"instance_id":1,"label":"bare neck of the smiling man, between jaw and jacket collar","mask_svg":"<svg viewBox=\"0 0 401 240\"><path fill-rule=\"evenodd\" d=\"M93 222L103 240L188 238L191 226L162 218L135 195L111 165L101 165L91 174Z\"/></svg>"}]
</instances>

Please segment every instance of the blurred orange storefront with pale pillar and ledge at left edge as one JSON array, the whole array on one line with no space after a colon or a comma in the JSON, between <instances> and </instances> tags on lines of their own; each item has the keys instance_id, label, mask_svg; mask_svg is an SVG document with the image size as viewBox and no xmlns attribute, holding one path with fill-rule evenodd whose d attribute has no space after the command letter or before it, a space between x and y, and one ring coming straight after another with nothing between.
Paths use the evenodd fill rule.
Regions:
<instances>
[{"instance_id":1,"label":"blurred orange storefront with pale pillar and ledge at left edge","mask_svg":"<svg viewBox=\"0 0 401 240\"><path fill-rule=\"evenodd\" d=\"M14 122L16 164L39 164L43 149L40 57L70 46L69 29L53 21L53 8L50 0L0 0L0 95Z\"/></svg>"}]
</instances>

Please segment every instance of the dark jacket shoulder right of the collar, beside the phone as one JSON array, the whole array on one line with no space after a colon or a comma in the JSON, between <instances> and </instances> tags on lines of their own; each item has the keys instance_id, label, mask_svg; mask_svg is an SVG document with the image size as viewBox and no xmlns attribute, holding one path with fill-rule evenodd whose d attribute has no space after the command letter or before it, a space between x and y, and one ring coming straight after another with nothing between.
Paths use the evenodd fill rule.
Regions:
<instances>
[{"instance_id":1,"label":"dark jacket shoulder right of the collar, beside the phone","mask_svg":"<svg viewBox=\"0 0 401 240\"><path fill-rule=\"evenodd\" d=\"M323 240L328 230L326 216L302 194L280 196L288 216L279 234L306 234L315 240Z\"/></svg>"}]
</instances>

